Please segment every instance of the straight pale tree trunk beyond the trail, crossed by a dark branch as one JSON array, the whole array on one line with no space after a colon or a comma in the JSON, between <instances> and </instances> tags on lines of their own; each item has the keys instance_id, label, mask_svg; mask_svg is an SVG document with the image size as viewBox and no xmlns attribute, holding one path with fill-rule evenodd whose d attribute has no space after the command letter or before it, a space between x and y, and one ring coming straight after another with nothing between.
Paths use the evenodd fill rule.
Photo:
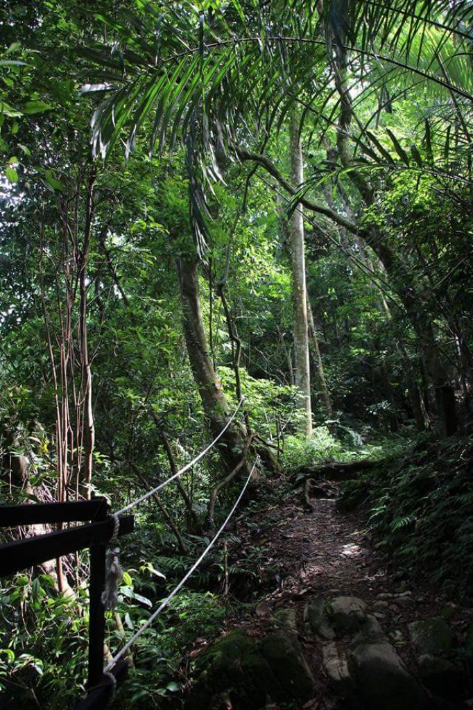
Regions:
<instances>
[{"instance_id":1,"label":"straight pale tree trunk beyond the trail, crossed by a dark branch","mask_svg":"<svg viewBox=\"0 0 473 710\"><path fill-rule=\"evenodd\" d=\"M297 116L293 116L290 124L290 168L293 184L298 187L304 180L304 174ZM300 204L290 219L290 245L293 271L295 386L300 391L300 408L305 412L303 431L306 436L310 437L312 434L312 408L310 405L308 315L305 297L304 218Z\"/></svg>"}]
</instances>

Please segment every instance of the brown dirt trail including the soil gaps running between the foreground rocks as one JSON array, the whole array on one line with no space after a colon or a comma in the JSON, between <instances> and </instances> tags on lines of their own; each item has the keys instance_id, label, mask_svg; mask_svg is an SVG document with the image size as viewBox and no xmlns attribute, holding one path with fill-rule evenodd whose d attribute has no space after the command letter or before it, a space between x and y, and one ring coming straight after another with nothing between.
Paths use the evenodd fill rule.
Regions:
<instances>
[{"instance_id":1,"label":"brown dirt trail including the soil gaps running between the foreground rocks","mask_svg":"<svg viewBox=\"0 0 473 710\"><path fill-rule=\"evenodd\" d=\"M284 484L274 484L276 488ZM270 506L251 517L251 535L237 554L258 547L265 551L261 577L271 570L275 581L272 591L260 597L253 613L239 618L237 626L251 636L268 633L271 617L280 608L294 608L298 618L304 655L316 679L314 697L301 705L304 710L342 708L330 691L322 670L320 641L304 632L304 608L308 601L334 596L355 596L364 600L370 613L379 620L406 667L415 673L415 657L411 650L408 623L445 613L447 601L403 579L402 574L389 569L388 559L366 541L366 525L361 515L345 513L337 508L337 486L329 484L330 498L312 498L313 510L304 508L299 493L286 496L282 508ZM276 491L275 491L276 492ZM322 493L323 495L323 493ZM241 516L237 533L245 537L247 520ZM276 578L273 570L276 569ZM266 582L268 577L266 577ZM268 585L265 584L266 589ZM232 590L230 591L232 593ZM406 595L405 603L391 601L391 596ZM402 600L401 600L402 601ZM449 623L459 630L459 610L451 606ZM229 628L235 626L235 621ZM297 705L293 705L293 708ZM271 710L278 705L271 705ZM381 710L381 709L380 709Z\"/></svg>"}]
</instances>

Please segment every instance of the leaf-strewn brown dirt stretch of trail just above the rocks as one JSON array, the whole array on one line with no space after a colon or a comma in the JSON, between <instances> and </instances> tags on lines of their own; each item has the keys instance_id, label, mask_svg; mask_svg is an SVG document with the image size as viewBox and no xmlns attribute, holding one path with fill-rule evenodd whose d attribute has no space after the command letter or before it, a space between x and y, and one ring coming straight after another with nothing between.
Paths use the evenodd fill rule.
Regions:
<instances>
[{"instance_id":1,"label":"leaf-strewn brown dirt stretch of trail just above the rocks","mask_svg":"<svg viewBox=\"0 0 473 710\"><path fill-rule=\"evenodd\" d=\"M335 497L312 498L312 506L312 512L307 512L298 497L291 496L282 509L263 510L254 518L262 526L251 544L265 545L268 564L276 562L280 570L280 587L268 595L268 601L286 603L306 594L321 598L343 594L371 601L393 587L408 589L400 579L393 579L386 560L366 544L361 516L339 511ZM427 601L425 595L423 599Z\"/></svg>"}]
</instances>

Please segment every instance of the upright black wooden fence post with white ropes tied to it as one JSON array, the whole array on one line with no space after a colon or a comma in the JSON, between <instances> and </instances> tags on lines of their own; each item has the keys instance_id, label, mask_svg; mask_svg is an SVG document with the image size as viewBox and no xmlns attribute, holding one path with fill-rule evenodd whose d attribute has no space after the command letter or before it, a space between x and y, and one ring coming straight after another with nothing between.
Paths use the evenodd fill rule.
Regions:
<instances>
[{"instance_id":1,"label":"upright black wooden fence post with white ropes tied to it","mask_svg":"<svg viewBox=\"0 0 473 710\"><path fill-rule=\"evenodd\" d=\"M103 518L107 517L106 512L102 515ZM99 684L104 676L105 609L102 603L104 587L105 545L98 543L90 547L89 675L87 679L89 688Z\"/></svg>"}]
</instances>

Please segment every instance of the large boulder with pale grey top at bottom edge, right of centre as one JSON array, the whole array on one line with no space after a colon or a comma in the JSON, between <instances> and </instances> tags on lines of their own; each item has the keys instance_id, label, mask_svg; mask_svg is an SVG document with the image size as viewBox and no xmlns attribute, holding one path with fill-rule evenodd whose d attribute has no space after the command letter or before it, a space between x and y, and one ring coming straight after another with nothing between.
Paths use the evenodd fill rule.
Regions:
<instances>
[{"instance_id":1,"label":"large boulder with pale grey top at bottom edge, right of centre","mask_svg":"<svg viewBox=\"0 0 473 710\"><path fill-rule=\"evenodd\" d=\"M364 710L421 710L425 694L391 644L359 643L349 652L349 669Z\"/></svg>"}]
</instances>

